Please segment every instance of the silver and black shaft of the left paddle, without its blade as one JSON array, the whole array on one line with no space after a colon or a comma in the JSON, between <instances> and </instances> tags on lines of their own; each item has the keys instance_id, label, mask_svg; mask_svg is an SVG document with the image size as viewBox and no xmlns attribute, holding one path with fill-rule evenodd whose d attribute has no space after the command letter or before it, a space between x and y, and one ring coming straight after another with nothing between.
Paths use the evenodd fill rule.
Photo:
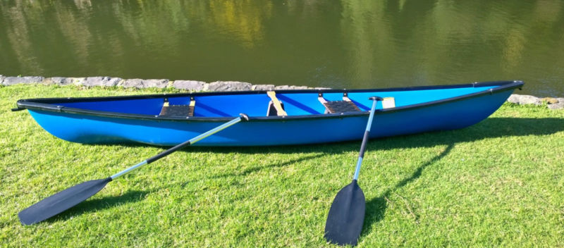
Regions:
<instances>
[{"instance_id":1,"label":"silver and black shaft of the left paddle, without its blade","mask_svg":"<svg viewBox=\"0 0 564 248\"><path fill-rule=\"evenodd\" d=\"M243 115L243 114L242 114ZM166 151L161 152L160 154L157 154L155 156L152 156L151 158L142 161L141 163L137 163L135 166L131 166L130 168L126 168L123 171L120 171L114 175L111 175L111 180L114 180L116 178L121 177L122 175L125 175L127 173L130 173L131 171L134 171L137 168L140 168L141 166L145 166L147 163L152 163L154 161L157 161L161 158L163 158L164 156L173 153L174 151L177 151L178 149L182 149L183 147L188 147L190 144L194 144L195 142L198 142L202 139L204 139L205 137L209 137L210 135L213 135L216 132L219 132L223 129L229 128L232 125L235 125L235 123L238 123L242 120L242 118L246 118L246 116L241 116L238 118L235 118L233 120L230 120L228 123L224 123L223 125L218 126L217 128L214 128L212 130L209 130L207 132L202 133L201 135L198 135L196 137L193 137L190 140L187 140L185 142L182 142L180 144L177 144L176 146L172 147L171 149L168 149Z\"/></svg>"}]
</instances>

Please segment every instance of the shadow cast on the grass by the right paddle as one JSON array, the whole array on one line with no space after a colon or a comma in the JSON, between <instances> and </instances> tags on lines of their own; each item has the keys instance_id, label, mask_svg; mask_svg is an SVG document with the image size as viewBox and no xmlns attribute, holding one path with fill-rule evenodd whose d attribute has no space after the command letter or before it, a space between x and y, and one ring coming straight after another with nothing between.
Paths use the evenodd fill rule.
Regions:
<instances>
[{"instance_id":1,"label":"shadow cast on the grass by the right paddle","mask_svg":"<svg viewBox=\"0 0 564 248\"><path fill-rule=\"evenodd\" d=\"M454 144L449 144L448 147L446 147L446 149L441 154L435 156L433 159L431 159L431 160L423 163L421 166L419 166L419 168L417 168L417 170L415 170L411 174L410 177L404 178L403 180L398 182L395 186L386 190L386 192L381 194L380 197L374 197L373 199L370 199L366 203L367 211L366 211L366 216L364 217L364 229L362 230L361 237L363 237L364 235L367 235L367 233L370 233L372 231L372 224L373 223L381 221L381 219L384 218L384 213L386 213L386 209L388 208L387 198L390 196L390 194L393 191L398 190L400 187L407 185L407 183L409 183L409 182L417 180L417 178L419 178L421 176L421 173L423 172L423 170L425 168L433 165L434 163L436 163L436 161L443 159L443 157L446 156L450 152L450 150L453 149L453 147L454 147ZM417 216L415 214L413 214L413 215L414 215L415 221L417 222L417 218L419 218L419 216Z\"/></svg>"}]
</instances>

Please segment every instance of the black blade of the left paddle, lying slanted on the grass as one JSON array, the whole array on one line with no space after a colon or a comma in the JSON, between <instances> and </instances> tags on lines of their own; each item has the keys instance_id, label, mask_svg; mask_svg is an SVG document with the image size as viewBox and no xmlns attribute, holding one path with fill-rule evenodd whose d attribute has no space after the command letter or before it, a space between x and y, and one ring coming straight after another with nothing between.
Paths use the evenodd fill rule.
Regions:
<instances>
[{"instance_id":1,"label":"black blade of the left paddle, lying slanted on the grass","mask_svg":"<svg viewBox=\"0 0 564 248\"><path fill-rule=\"evenodd\" d=\"M82 182L80 185L74 185L73 187L69 187L66 190L42 199L41 202L37 202L18 213L20 222L23 225L32 225L56 216L62 211L70 209L76 204L83 202L85 199L92 197L102 190L110 181L111 178L105 178Z\"/></svg>"}]
</instances>

